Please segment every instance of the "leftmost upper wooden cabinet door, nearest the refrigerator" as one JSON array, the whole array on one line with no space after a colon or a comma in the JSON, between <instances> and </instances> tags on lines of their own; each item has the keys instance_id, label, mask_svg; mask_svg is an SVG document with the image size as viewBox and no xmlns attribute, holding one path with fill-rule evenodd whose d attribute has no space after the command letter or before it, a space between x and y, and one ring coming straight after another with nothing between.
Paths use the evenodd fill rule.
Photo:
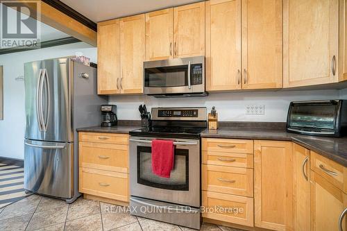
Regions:
<instances>
[{"instance_id":1,"label":"leftmost upper wooden cabinet door, nearest the refrigerator","mask_svg":"<svg viewBox=\"0 0 347 231\"><path fill-rule=\"evenodd\" d=\"M98 94L118 94L119 20L98 24Z\"/></svg>"}]
</instances>

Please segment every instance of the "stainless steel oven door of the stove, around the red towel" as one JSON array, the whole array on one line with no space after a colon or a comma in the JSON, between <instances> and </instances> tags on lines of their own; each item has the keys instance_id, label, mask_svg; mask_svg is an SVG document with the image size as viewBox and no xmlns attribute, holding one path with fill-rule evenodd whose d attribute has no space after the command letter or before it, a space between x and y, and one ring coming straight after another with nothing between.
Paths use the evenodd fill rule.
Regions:
<instances>
[{"instance_id":1,"label":"stainless steel oven door of the stove, around the red towel","mask_svg":"<svg viewBox=\"0 0 347 231\"><path fill-rule=\"evenodd\" d=\"M152 173L152 139L130 138L131 196L199 207L200 141L174 139L174 169L170 178L161 178Z\"/></svg>"}]
</instances>

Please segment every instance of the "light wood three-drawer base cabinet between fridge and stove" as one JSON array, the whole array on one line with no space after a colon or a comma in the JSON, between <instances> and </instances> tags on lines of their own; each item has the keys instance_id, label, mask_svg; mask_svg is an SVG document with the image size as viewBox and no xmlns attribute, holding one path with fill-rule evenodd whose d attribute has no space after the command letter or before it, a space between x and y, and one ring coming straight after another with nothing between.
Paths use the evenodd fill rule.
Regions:
<instances>
[{"instance_id":1,"label":"light wood three-drawer base cabinet between fridge and stove","mask_svg":"<svg viewBox=\"0 0 347 231\"><path fill-rule=\"evenodd\" d=\"M127 134L78 132L78 191L86 198L127 205Z\"/></svg>"}]
</instances>

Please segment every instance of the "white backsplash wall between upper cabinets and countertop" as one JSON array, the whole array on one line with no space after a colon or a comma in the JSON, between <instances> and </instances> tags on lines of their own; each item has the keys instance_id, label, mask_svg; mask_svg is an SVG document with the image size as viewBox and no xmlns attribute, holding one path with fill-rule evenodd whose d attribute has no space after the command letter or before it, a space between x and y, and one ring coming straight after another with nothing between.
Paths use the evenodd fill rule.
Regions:
<instances>
[{"instance_id":1,"label":"white backsplash wall between upper cabinets and countertop","mask_svg":"<svg viewBox=\"0 0 347 231\"><path fill-rule=\"evenodd\" d=\"M315 99L347 99L347 89L277 92L212 93L201 98L155 99L153 96L110 96L117 105L118 119L140 119L138 106L152 107L216 106L220 121L285 122L289 102ZM264 105L264 114L246 114L246 105Z\"/></svg>"}]
</instances>

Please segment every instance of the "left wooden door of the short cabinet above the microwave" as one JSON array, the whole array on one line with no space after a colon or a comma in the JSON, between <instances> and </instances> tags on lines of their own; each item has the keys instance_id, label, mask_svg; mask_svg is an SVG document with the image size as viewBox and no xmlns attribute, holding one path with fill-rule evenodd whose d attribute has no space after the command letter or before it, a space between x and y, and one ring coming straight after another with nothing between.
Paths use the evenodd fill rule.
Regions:
<instances>
[{"instance_id":1,"label":"left wooden door of the short cabinet above the microwave","mask_svg":"<svg viewBox=\"0 0 347 231\"><path fill-rule=\"evenodd\" d=\"M174 9L146 13L146 60L173 58Z\"/></svg>"}]
</instances>

